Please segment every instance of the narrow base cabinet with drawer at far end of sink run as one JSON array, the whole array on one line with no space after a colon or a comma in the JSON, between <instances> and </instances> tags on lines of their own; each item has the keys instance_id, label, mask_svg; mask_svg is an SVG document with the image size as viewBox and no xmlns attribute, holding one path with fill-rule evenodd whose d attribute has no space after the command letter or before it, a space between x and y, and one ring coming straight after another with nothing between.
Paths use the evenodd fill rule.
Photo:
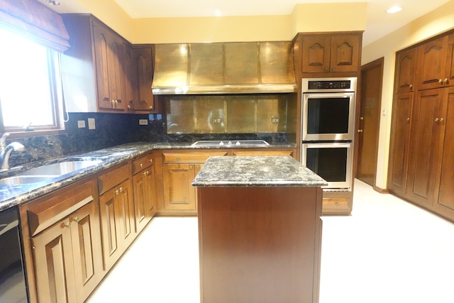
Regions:
<instances>
[{"instance_id":1,"label":"narrow base cabinet with drawer at far end of sink run","mask_svg":"<svg viewBox=\"0 0 454 303\"><path fill-rule=\"evenodd\" d=\"M140 232L156 213L153 153L133 160L135 228Z\"/></svg>"}]
</instances>

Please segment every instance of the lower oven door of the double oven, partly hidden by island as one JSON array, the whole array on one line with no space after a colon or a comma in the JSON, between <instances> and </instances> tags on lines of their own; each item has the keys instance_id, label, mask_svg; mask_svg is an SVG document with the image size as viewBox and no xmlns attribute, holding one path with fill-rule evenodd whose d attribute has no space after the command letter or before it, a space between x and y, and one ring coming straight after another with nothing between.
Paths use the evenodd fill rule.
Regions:
<instances>
[{"instance_id":1,"label":"lower oven door of the double oven, partly hidden by island","mask_svg":"<svg viewBox=\"0 0 454 303\"><path fill-rule=\"evenodd\" d=\"M323 189L351 190L352 143L303 143L301 161L328 182Z\"/></svg>"}]
</instances>

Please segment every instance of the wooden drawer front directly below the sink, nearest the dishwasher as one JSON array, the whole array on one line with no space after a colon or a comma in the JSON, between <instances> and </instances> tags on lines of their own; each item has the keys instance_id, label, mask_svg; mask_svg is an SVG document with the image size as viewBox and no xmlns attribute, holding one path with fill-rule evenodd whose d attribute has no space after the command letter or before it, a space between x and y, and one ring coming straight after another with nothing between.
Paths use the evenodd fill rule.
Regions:
<instances>
[{"instance_id":1,"label":"wooden drawer front directly below the sink, nearest the dishwasher","mask_svg":"<svg viewBox=\"0 0 454 303\"><path fill-rule=\"evenodd\" d=\"M92 181L79 183L35 200L27 210L30 235L35 236L93 200Z\"/></svg>"}]
</instances>

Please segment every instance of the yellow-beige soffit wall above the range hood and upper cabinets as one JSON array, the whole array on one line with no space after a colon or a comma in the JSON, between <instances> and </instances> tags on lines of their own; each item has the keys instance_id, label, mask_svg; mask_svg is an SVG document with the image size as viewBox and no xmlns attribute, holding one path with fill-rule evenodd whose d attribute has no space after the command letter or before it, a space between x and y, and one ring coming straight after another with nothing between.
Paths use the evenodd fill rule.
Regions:
<instances>
[{"instance_id":1,"label":"yellow-beige soffit wall above the range hood and upper cabinets","mask_svg":"<svg viewBox=\"0 0 454 303\"><path fill-rule=\"evenodd\" d=\"M133 19L114 0L72 2L131 43L289 41L299 32L364 31L367 9L365 2L297 4L279 16Z\"/></svg>"}]
</instances>

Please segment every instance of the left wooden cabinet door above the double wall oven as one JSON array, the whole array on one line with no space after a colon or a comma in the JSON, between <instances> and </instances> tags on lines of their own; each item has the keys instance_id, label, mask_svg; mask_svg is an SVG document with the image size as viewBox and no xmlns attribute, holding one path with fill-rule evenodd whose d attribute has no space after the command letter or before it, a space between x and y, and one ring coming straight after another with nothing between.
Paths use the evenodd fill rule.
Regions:
<instances>
[{"instance_id":1,"label":"left wooden cabinet door above the double wall oven","mask_svg":"<svg viewBox=\"0 0 454 303\"><path fill-rule=\"evenodd\" d=\"M331 36L310 35L303 37L302 72L329 72Z\"/></svg>"}]
</instances>

